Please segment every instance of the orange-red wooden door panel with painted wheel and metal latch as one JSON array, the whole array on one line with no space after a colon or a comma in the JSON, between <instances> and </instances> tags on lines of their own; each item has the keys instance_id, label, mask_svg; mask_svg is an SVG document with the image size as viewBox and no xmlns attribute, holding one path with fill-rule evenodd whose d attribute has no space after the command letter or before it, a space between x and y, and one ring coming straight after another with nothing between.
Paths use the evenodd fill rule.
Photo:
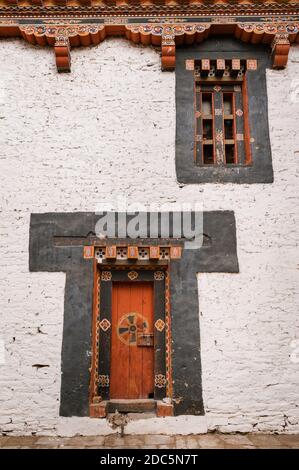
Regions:
<instances>
[{"instance_id":1,"label":"orange-red wooden door panel with painted wheel and metal latch","mask_svg":"<svg viewBox=\"0 0 299 470\"><path fill-rule=\"evenodd\" d=\"M153 283L113 283L111 399L153 398L153 341L151 346L140 344L153 331Z\"/></svg>"}]
</instances>

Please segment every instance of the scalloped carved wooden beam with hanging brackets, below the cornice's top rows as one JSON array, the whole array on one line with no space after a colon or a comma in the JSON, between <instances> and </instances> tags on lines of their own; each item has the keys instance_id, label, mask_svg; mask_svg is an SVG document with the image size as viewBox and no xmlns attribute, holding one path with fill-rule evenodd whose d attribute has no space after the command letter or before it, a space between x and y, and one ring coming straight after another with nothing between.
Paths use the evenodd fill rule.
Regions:
<instances>
[{"instance_id":1,"label":"scalloped carved wooden beam with hanging brackets, below the cornice's top rows","mask_svg":"<svg viewBox=\"0 0 299 470\"><path fill-rule=\"evenodd\" d=\"M265 16L244 22L227 17L155 18L101 17L92 12L84 18L73 19L42 17L20 21L17 17L2 19L0 8L0 37L22 36L33 45L53 46L57 69L70 71L70 49L78 46L97 45L107 36L123 36L135 44L152 45L161 49L162 69L175 68L176 47L198 44L211 35L229 34L243 42L266 44L272 47L273 67L287 64L290 44L299 43L299 14L290 21L279 16L265 20ZM299 13L299 4L298 4ZM17 14L16 14L17 16ZM245 16L244 16L245 18ZM295 19L294 19L295 18ZM297 18L297 19L296 19ZM196 20L196 21L195 21ZM239 20L239 18L238 18ZM271 21L270 21L271 20Z\"/></svg>"}]
</instances>

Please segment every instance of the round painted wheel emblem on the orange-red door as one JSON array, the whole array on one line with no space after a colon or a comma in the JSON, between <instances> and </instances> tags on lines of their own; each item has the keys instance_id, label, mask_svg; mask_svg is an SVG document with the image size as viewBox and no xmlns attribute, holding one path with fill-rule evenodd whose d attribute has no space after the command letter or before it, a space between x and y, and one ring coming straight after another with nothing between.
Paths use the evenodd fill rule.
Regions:
<instances>
[{"instance_id":1,"label":"round painted wheel emblem on the orange-red door","mask_svg":"<svg viewBox=\"0 0 299 470\"><path fill-rule=\"evenodd\" d=\"M117 325L117 335L120 341L127 346L137 346L138 331L148 330L148 323L139 313L123 315Z\"/></svg>"}]
</instances>

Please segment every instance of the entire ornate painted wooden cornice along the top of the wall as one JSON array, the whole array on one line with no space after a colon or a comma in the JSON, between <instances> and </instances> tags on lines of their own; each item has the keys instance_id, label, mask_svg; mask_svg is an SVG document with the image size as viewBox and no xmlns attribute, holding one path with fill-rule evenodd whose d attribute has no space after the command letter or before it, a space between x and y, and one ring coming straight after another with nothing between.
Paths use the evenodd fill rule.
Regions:
<instances>
[{"instance_id":1,"label":"entire ornate painted wooden cornice along the top of the wall","mask_svg":"<svg viewBox=\"0 0 299 470\"><path fill-rule=\"evenodd\" d=\"M109 36L159 47L162 68L175 68L176 46L229 34L271 46L283 68L299 43L299 0L0 0L0 37L52 46L59 72L71 69L72 47Z\"/></svg>"}]
</instances>

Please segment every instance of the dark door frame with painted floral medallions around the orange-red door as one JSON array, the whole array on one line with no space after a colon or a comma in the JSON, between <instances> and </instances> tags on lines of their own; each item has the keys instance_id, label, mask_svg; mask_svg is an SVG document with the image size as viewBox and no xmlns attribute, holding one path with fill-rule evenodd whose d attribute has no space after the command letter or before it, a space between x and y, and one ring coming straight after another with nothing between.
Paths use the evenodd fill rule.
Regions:
<instances>
[{"instance_id":1,"label":"dark door frame with painted floral medallions around the orange-red door","mask_svg":"<svg viewBox=\"0 0 299 470\"><path fill-rule=\"evenodd\" d=\"M94 268L93 360L90 402L110 399L113 282L152 282L154 286L154 400L172 397L170 279L167 265Z\"/></svg>"}]
</instances>

